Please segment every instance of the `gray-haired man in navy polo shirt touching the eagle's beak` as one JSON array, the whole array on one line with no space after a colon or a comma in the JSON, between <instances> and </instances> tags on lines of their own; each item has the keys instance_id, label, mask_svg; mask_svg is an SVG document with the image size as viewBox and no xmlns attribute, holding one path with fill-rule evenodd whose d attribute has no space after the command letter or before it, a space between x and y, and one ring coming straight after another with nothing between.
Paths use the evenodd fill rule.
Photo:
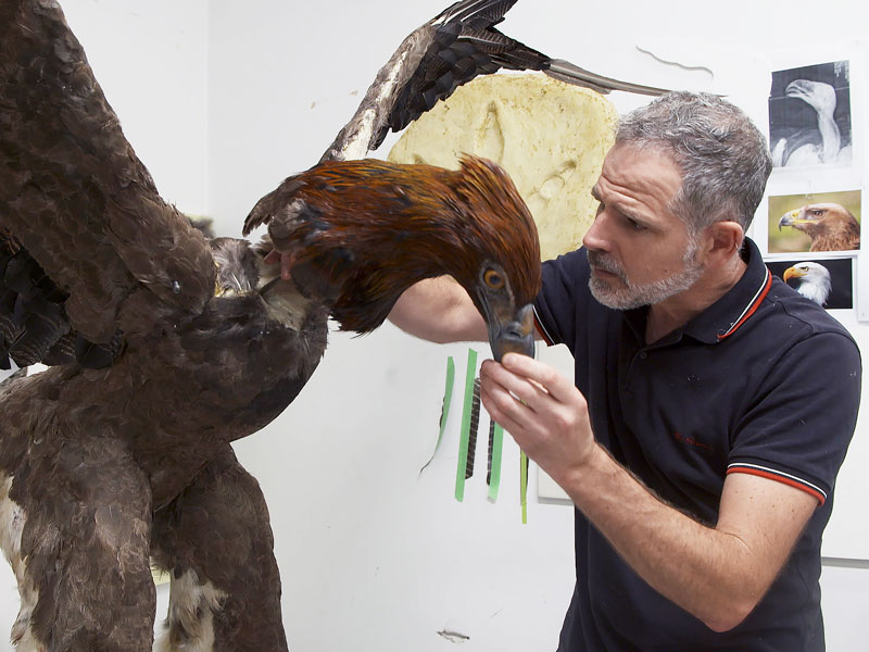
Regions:
<instances>
[{"instance_id":1,"label":"gray-haired man in navy polo shirt touching the eagle's beak","mask_svg":"<svg viewBox=\"0 0 869 652\"><path fill-rule=\"evenodd\" d=\"M576 387L525 356L482 365L486 409L577 507L561 652L824 649L820 540L860 360L744 238L770 168L717 97L628 115L584 247L544 263L536 303ZM414 286L390 318L486 339L449 279Z\"/></svg>"}]
</instances>

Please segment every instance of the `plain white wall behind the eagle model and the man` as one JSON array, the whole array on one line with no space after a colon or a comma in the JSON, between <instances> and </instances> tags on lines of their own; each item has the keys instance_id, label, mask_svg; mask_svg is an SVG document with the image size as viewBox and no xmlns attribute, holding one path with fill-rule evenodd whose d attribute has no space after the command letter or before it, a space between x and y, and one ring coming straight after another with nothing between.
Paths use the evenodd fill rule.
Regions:
<instances>
[{"instance_id":1,"label":"plain white wall behind the eagle model and the man","mask_svg":"<svg viewBox=\"0 0 869 652\"><path fill-rule=\"evenodd\" d=\"M316 162L398 42L446 2L63 4L164 197L207 212L218 233L238 235L255 200ZM728 93L760 124L768 92L760 59L805 41L815 62L823 61L815 2L794 0L782 11L779 3L735 0L715 14L698 7L705 5L525 0L503 28L596 72ZM856 20L862 11L857 0L824 5L826 15L842 16L839 29L855 36L866 30ZM637 45L715 75L663 64ZM643 101L618 93L613 100L619 110ZM269 503L293 650L451 649L437 634L444 629L469 636L464 649L555 648L572 587L570 509L531 498L529 524L520 523L513 447L499 502L490 504L477 480L457 503L455 423L418 475L437 438L446 356L455 356L461 376L466 349L420 342L389 325L365 338L337 334L285 415L237 444ZM867 460L860 429L856 457ZM843 472L851 492L843 485L839 504L864 500L859 472ZM831 530L843 543L827 554L869 550L860 540L866 527L840 531L847 536ZM824 568L831 650L865 649L867 574ZM0 588L2 632L17 609L11 575Z\"/></svg>"}]
</instances>

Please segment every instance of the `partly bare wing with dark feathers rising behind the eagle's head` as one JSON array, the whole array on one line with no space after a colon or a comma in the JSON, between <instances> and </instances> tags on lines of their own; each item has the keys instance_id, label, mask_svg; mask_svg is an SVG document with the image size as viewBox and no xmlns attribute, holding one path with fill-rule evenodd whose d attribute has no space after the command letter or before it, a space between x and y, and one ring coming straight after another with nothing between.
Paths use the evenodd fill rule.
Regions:
<instances>
[{"instance_id":1,"label":"partly bare wing with dark feathers rising behind the eagle's head","mask_svg":"<svg viewBox=\"0 0 869 652\"><path fill-rule=\"evenodd\" d=\"M542 71L596 90L660 95L664 89L619 82L551 59L495 29L517 0L459 0L405 38L380 68L353 118L320 162L363 159L387 134L400 131L461 85L501 68Z\"/></svg>"}]
</instances>

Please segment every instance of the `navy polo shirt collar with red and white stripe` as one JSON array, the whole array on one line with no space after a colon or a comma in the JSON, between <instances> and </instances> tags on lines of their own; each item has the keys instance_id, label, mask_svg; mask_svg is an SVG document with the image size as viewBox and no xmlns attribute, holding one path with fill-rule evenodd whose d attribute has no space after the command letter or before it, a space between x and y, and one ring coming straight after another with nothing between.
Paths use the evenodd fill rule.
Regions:
<instances>
[{"instance_id":1,"label":"navy polo shirt collar with red and white stripe","mask_svg":"<svg viewBox=\"0 0 869 652\"><path fill-rule=\"evenodd\" d=\"M750 238L742 249L747 267L728 292L684 325L683 334L705 343L716 343L732 336L755 313L769 292L772 275L764 264L760 250Z\"/></svg>"}]
</instances>

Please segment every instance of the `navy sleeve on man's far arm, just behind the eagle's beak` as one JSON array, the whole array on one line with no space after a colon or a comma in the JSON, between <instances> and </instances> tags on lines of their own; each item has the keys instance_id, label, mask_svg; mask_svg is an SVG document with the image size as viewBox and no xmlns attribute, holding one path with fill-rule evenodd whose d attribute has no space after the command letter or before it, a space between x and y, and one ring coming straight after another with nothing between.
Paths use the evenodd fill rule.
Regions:
<instances>
[{"instance_id":1,"label":"navy sleeve on man's far arm, just behind the eagle's beak","mask_svg":"<svg viewBox=\"0 0 869 652\"><path fill-rule=\"evenodd\" d=\"M584 249L543 263L543 288L534 302L534 317L546 343L565 343L572 352L580 303L577 288L587 286L588 278L588 256Z\"/></svg>"}]
</instances>

